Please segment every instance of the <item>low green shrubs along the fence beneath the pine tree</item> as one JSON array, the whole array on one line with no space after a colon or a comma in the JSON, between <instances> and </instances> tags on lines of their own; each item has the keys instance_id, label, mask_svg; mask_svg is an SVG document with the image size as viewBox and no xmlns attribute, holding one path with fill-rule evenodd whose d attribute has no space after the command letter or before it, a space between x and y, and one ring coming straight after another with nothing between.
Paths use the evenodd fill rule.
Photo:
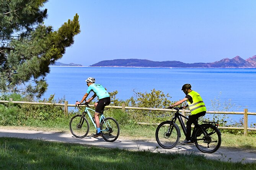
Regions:
<instances>
[{"instance_id":1,"label":"low green shrubs along the fence beneath the pine tree","mask_svg":"<svg viewBox=\"0 0 256 170\"><path fill-rule=\"evenodd\" d=\"M26 99L17 94L10 94L7 98L13 101L24 101ZM64 100L62 100L64 102ZM39 102L56 103L54 95L49 99L39 100ZM0 104L0 125L39 125L57 118L66 119L64 109L61 106L34 105L34 104Z\"/></svg>"}]
</instances>

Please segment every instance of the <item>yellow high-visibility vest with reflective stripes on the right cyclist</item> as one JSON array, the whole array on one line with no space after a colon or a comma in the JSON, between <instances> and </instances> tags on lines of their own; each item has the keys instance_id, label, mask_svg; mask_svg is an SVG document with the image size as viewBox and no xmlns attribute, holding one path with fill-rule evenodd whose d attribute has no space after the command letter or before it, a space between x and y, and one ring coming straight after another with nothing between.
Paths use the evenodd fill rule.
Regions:
<instances>
[{"instance_id":1,"label":"yellow high-visibility vest with reflective stripes on the right cyclist","mask_svg":"<svg viewBox=\"0 0 256 170\"><path fill-rule=\"evenodd\" d=\"M191 96L193 100L193 103L190 103L190 101L187 100L191 115L206 111L205 104L199 93L191 91L188 95Z\"/></svg>"}]
</instances>

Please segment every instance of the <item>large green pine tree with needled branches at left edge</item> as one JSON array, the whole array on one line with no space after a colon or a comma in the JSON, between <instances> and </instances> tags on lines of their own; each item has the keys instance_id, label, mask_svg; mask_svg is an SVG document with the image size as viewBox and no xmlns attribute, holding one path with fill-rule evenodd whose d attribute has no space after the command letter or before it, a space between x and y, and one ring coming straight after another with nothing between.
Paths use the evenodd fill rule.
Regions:
<instances>
[{"instance_id":1,"label":"large green pine tree with needled branches at left edge","mask_svg":"<svg viewBox=\"0 0 256 170\"><path fill-rule=\"evenodd\" d=\"M49 65L62 58L80 33L78 15L58 30L45 26L47 0L0 1L0 92L40 98Z\"/></svg>"}]
</instances>

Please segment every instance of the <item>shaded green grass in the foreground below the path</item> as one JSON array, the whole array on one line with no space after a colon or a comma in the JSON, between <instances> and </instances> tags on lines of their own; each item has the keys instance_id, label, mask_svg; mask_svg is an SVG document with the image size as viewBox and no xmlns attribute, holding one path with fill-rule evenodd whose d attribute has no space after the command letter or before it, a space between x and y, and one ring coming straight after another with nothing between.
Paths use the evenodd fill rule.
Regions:
<instances>
[{"instance_id":1,"label":"shaded green grass in the foreground below the path","mask_svg":"<svg viewBox=\"0 0 256 170\"><path fill-rule=\"evenodd\" d=\"M208 160L190 154L163 154L149 151L108 149L81 144L42 140L0 138L0 169L209 169L255 170L256 163L232 163Z\"/></svg>"}]
</instances>

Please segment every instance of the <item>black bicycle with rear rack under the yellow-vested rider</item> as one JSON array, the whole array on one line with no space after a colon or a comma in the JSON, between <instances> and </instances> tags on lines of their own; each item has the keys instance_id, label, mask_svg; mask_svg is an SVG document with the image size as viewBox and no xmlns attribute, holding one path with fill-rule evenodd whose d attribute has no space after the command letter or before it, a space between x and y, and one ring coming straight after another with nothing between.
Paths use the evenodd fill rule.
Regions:
<instances>
[{"instance_id":1,"label":"black bicycle with rear rack under the yellow-vested rider","mask_svg":"<svg viewBox=\"0 0 256 170\"><path fill-rule=\"evenodd\" d=\"M157 143L165 149L174 148L179 143L181 137L181 131L178 125L175 123L179 120L184 135L186 136L186 127L182 117L188 119L188 117L179 113L182 107L173 107L176 110L172 120L167 120L158 125L155 136ZM220 148L221 133L218 129L217 122L203 121L203 124L198 123L198 119L194 122L194 129L191 135L191 142L195 143L196 148L204 153L214 153Z\"/></svg>"}]
</instances>

